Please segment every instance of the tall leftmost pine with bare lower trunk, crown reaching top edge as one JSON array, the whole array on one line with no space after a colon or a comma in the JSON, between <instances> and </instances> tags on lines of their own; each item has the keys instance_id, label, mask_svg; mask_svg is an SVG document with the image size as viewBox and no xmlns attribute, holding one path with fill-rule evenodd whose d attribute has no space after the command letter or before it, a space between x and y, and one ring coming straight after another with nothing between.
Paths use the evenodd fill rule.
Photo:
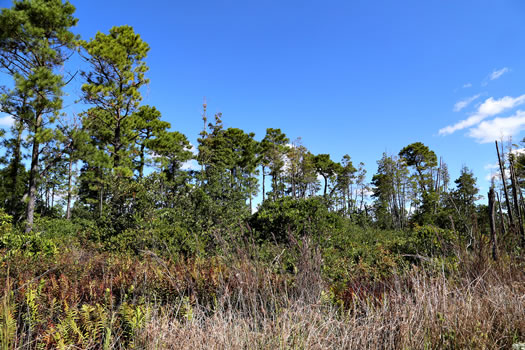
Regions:
<instances>
[{"instance_id":1,"label":"tall leftmost pine with bare lower trunk, crown reaching top edge","mask_svg":"<svg viewBox=\"0 0 525 350\"><path fill-rule=\"evenodd\" d=\"M33 228L41 145L52 138L49 127L62 108L65 82L58 68L75 45L74 11L62 0L22 0L0 14L0 66L13 78L0 107L24 125L31 143L27 232Z\"/></svg>"}]
</instances>

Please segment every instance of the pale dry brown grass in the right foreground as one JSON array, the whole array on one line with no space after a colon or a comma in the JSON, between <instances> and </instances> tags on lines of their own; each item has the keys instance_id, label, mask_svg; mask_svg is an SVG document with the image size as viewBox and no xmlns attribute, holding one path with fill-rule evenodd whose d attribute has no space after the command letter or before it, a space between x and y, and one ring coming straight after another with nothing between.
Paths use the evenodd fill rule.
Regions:
<instances>
[{"instance_id":1,"label":"pale dry brown grass in the right foreground","mask_svg":"<svg viewBox=\"0 0 525 350\"><path fill-rule=\"evenodd\" d=\"M191 309L159 307L137 344L146 349L510 349L525 339L525 276L501 266L477 267L455 279L415 269L392 281L381 300L356 294L345 310L322 295L268 294L271 285L262 293L250 288L244 295L225 293L213 311L198 301ZM236 272L241 284L254 279L250 271Z\"/></svg>"}]
</instances>

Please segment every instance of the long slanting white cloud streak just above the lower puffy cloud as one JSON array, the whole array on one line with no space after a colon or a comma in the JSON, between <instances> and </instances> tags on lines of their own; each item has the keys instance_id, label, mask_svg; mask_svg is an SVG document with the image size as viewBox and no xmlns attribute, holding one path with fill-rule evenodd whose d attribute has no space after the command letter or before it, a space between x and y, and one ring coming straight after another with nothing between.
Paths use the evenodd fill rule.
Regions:
<instances>
[{"instance_id":1,"label":"long slanting white cloud streak just above the lower puffy cloud","mask_svg":"<svg viewBox=\"0 0 525 350\"><path fill-rule=\"evenodd\" d=\"M505 96L499 100L495 100L492 97L489 97L485 100L479 107L476 113L457 122L454 125L446 126L439 130L440 135L449 135L458 130L462 130L471 126L474 126L481 122L483 119L488 117L493 117L497 114L500 114L506 110L512 109L516 106L525 103L525 95L518 96L516 98Z\"/></svg>"}]
</instances>

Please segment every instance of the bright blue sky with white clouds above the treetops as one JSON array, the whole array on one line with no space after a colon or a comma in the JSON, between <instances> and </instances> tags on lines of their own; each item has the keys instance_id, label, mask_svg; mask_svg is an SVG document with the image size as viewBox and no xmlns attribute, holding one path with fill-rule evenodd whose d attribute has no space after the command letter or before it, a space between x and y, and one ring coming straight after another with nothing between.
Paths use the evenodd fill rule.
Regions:
<instances>
[{"instance_id":1,"label":"bright blue sky with white clouds above the treetops","mask_svg":"<svg viewBox=\"0 0 525 350\"><path fill-rule=\"evenodd\" d=\"M383 152L421 141L485 194L493 138L524 136L523 1L72 3L83 38L128 24L149 43L143 102L193 143L206 96L226 127L281 128L369 177Z\"/></svg>"}]
</instances>

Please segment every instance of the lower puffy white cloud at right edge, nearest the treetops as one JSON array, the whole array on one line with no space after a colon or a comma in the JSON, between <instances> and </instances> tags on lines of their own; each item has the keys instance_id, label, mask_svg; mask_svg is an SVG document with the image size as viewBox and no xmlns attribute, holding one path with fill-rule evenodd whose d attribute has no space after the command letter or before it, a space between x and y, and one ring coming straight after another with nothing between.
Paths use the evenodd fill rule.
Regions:
<instances>
[{"instance_id":1,"label":"lower puffy white cloud at right edge, nearest the treetops","mask_svg":"<svg viewBox=\"0 0 525 350\"><path fill-rule=\"evenodd\" d=\"M522 130L525 130L525 111L520 110L510 117L483 121L470 129L468 136L479 143L488 143L514 136Z\"/></svg>"}]
</instances>

